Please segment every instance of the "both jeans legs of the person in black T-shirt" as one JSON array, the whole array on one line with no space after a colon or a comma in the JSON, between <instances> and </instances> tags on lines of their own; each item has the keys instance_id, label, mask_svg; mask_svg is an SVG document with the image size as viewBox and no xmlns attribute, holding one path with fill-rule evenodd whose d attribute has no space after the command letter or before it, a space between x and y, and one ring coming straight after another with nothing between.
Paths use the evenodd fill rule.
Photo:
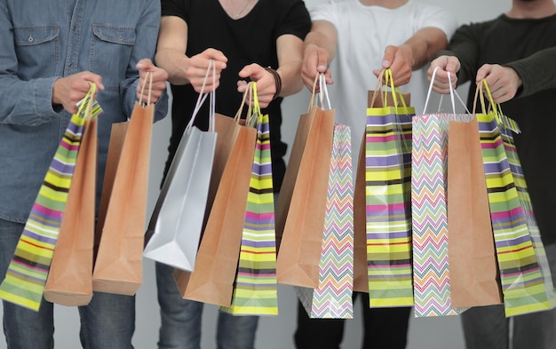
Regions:
<instances>
[{"instance_id":1,"label":"both jeans legs of the person in black T-shirt","mask_svg":"<svg viewBox=\"0 0 556 349\"><path fill-rule=\"evenodd\" d=\"M181 297L173 267L156 263L156 287L161 313L159 349L200 349L203 303ZM253 349L258 316L218 312L217 348Z\"/></svg>"}]
</instances>

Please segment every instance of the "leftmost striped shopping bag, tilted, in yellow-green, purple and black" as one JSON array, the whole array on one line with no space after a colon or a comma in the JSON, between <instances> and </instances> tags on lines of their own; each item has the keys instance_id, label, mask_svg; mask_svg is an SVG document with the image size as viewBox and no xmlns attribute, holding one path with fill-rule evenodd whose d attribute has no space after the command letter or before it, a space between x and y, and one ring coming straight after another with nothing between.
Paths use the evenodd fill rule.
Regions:
<instances>
[{"instance_id":1,"label":"leftmost striped shopping bag, tilted, in yellow-green, purple and black","mask_svg":"<svg viewBox=\"0 0 556 349\"><path fill-rule=\"evenodd\" d=\"M102 112L95 95L96 85L91 83L77 113L72 115L46 172L44 183L36 196L4 281L0 285L0 298L8 302L39 310L68 202L68 191L83 136L83 124L86 119L96 117Z\"/></svg>"}]
</instances>

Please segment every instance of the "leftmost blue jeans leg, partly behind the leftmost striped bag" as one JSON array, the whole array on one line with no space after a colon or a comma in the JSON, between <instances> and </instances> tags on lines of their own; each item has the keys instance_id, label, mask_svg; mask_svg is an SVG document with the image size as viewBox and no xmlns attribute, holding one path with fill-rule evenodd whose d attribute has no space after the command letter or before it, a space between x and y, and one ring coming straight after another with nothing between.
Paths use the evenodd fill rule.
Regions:
<instances>
[{"instance_id":1,"label":"leftmost blue jeans leg, partly behind the leftmost striped bag","mask_svg":"<svg viewBox=\"0 0 556 349\"><path fill-rule=\"evenodd\" d=\"M24 224L0 219L0 280L4 280ZM8 349L52 349L52 303L43 299L39 312L3 301L4 336Z\"/></svg>"}]
</instances>

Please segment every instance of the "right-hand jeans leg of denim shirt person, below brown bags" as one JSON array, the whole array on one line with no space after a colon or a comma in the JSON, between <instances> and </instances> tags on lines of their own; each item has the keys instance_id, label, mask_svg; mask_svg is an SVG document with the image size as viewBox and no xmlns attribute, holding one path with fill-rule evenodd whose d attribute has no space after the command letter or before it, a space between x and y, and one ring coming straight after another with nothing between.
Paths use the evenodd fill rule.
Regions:
<instances>
[{"instance_id":1,"label":"right-hand jeans leg of denim shirt person, below brown bags","mask_svg":"<svg viewBox=\"0 0 556 349\"><path fill-rule=\"evenodd\" d=\"M132 349L135 296L94 292L89 305L79 306L84 349Z\"/></svg>"}]
</instances>

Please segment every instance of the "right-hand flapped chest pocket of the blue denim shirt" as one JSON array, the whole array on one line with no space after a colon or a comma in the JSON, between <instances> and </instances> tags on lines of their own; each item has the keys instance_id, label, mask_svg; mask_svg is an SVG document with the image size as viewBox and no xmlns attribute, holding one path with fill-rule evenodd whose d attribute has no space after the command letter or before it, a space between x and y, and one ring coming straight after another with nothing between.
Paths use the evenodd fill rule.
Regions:
<instances>
[{"instance_id":1,"label":"right-hand flapped chest pocket of the blue denim shirt","mask_svg":"<svg viewBox=\"0 0 556 349\"><path fill-rule=\"evenodd\" d=\"M126 77L131 53L135 46L135 28L92 24L90 70L102 76L107 90L118 90Z\"/></svg>"}]
</instances>

